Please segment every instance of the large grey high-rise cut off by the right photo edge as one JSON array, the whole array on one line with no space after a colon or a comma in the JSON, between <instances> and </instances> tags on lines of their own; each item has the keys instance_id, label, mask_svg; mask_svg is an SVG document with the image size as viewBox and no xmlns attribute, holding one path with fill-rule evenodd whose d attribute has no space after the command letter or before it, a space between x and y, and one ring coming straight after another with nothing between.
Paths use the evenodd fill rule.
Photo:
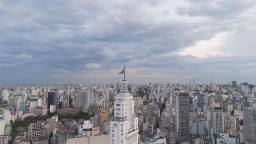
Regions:
<instances>
[{"instance_id":1,"label":"large grey high-rise cut off by the right photo edge","mask_svg":"<svg viewBox=\"0 0 256 144\"><path fill-rule=\"evenodd\" d=\"M243 136L244 140L256 141L256 131L253 124L256 123L256 104L243 107Z\"/></svg>"}]
</instances>

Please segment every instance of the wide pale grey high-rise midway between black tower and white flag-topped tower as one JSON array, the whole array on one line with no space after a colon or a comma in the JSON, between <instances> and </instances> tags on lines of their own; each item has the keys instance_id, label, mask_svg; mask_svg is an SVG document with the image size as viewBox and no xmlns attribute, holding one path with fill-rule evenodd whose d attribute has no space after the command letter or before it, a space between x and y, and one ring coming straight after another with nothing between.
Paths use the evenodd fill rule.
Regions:
<instances>
[{"instance_id":1,"label":"wide pale grey high-rise midway between black tower and white flag-topped tower","mask_svg":"<svg viewBox=\"0 0 256 144\"><path fill-rule=\"evenodd\" d=\"M85 105L94 105L94 92L79 91L78 106L84 107Z\"/></svg>"}]
</instances>

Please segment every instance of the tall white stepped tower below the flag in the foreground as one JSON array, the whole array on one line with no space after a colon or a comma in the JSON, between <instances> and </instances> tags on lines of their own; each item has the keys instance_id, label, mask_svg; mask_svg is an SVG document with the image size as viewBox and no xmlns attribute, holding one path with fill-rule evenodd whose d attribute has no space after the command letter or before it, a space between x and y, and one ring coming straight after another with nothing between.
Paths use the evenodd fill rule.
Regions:
<instances>
[{"instance_id":1,"label":"tall white stepped tower below the flag in the foreground","mask_svg":"<svg viewBox=\"0 0 256 144\"><path fill-rule=\"evenodd\" d=\"M114 117L110 118L109 143L137 144L138 131L133 96L127 89L127 81L123 80L121 92L115 96Z\"/></svg>"}]
</instances>

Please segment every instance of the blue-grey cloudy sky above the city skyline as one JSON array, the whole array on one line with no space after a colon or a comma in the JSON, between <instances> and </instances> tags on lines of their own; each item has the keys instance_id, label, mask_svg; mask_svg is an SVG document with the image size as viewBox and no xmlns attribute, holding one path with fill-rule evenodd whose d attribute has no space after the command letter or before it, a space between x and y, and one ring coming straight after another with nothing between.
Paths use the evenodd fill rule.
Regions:
<instances>
[{"instance_id":1,"label":"blue-grey cloudy sky above the city skyline","mask_svg":"<svg viewBox=\"0 0 256 144\"><path fill-rule=\"evenodd\" d=\"M255 0L1 0L0 85L251 82Z\"/></svg>"}]
</instances>

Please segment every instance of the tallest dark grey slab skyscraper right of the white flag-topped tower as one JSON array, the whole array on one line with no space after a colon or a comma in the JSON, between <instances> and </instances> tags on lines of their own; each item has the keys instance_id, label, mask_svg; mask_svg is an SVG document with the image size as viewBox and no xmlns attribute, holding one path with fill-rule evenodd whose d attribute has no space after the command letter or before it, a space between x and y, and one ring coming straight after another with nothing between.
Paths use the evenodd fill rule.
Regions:
<instances>
[{"instance_id":1,"label":"tallest dark grey slab skyscraper right of the white flag-topped tower","mask_svg":"<svg viewBox=\"0 0 256 144\"><path fill-rule=\"evenodd\" d=\"M189 104L189 93L179 93L176 96L176 132L179 143L190 141Z\"/></svg>"}]
</instances>

